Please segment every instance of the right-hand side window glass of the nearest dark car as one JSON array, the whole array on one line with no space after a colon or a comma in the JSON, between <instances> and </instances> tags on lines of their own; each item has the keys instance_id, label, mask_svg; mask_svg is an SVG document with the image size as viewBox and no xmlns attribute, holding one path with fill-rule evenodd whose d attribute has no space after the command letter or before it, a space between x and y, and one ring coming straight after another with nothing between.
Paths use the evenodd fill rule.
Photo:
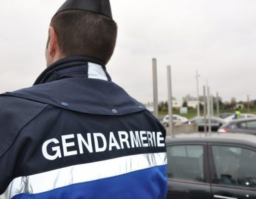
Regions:
<instances>
[{"instance_id":1,"label":"right-hand side window glass of the nearest dark car","mask_svg":"<svg viewBox=\"0 0 256 199\"><path fill-rule=\"evenodd\" d=\"M256 153L241 147L213 146L214 184L256 188Z\"/></svg>"}]
</instances>

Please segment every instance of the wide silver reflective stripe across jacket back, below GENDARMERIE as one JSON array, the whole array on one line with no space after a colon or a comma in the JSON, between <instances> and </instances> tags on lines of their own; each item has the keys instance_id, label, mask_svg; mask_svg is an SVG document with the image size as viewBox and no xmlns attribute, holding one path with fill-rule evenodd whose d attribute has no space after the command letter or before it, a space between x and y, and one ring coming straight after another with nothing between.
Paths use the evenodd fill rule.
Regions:
<instances>
[{"instance_id":1,"label":"wide silver reflective stripe across jacket back, below GENDARMERIE","mask_svg":"<svg viewBox=\"0 0 256 199\"><path fill-rule=\"evenodd\" d=\"M40 174L15 178L0 196L0 199L9 199L21 193L37 194L70 184L118 176L166 164L166 153L150 153L68 166Z\"/></svg>"}]
</instances>

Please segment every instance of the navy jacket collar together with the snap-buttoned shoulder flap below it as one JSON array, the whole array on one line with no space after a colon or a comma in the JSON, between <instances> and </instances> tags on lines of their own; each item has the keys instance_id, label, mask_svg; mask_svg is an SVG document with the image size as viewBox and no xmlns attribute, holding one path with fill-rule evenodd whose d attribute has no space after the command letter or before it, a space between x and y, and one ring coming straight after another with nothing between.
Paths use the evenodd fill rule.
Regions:
<instances>
[{"instance_id":1,"label":"navy jacket collar together with the snap-buttoned shoulder flap below it","mask_svg":"<svg viewBox=\"0 0 256 199\"><path fill-rule=\"evenodd\" d=\"M80 56L55 62L35 84L3 95L94 115L126 115L145 110L141 103L110 81L104 66Z\"/></svg>"}]
</instances>

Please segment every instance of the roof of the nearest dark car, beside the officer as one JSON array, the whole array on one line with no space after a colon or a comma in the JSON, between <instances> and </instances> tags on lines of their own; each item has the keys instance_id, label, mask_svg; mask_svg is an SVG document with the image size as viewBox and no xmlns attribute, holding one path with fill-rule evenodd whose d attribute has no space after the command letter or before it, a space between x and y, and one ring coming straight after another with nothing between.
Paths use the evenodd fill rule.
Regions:
<instances>
[{"instance_id":1,"label":"roof of the nearest dark car, beside the officer","mask_svg":"<svg viewBox=\"0 0 256 199\"><path fill-rule=\"evenodd\" d=\"M166 137L166 144L171 143L235 143L256 147L256 135L245 133L188 133Z\"/></svg>"}]
</instances>

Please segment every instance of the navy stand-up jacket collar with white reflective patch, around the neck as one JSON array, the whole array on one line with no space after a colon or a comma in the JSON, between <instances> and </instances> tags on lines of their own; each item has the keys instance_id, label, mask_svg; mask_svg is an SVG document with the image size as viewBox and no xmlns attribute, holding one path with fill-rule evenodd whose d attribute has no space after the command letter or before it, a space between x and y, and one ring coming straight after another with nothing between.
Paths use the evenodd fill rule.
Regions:
<instances>
[{"instance_id":1,"label":"navy stand-up jacket collar with white reflective patch, around the neck","mask_svg":"<svg viewBox=\"0 0 256 199\"><path fill-rule=\"evenodd\" d=\"M46 68L37 78L34 85L73 77L111 81L102 62L86 56L68 56Z\"/></svg>"}]
</instances>

